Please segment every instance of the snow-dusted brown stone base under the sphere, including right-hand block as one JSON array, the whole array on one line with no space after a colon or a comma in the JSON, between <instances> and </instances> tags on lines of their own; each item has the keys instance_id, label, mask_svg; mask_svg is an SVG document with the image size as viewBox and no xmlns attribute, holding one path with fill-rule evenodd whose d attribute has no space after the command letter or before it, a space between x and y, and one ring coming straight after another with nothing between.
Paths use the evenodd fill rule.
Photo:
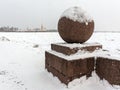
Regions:
<instances>
[{"instance_id":1,"label":"snow-dusted brown stone base under the sphere, including right-hand block","mask_svg":"<svg viewBox=\"0 0 120 90\"><path fill-rule=\"evenodd\" d=\"M84 75L90 77L95 70L100 79L105 79L112 85L120 85L120 58L112 57L109 51L106 53L106 50L102 50L102 45L52 44L51 49L45 52L45 68L62 83L67 85ZM98 53L94 53L95 50Z\"/></svg>"}]
</instances>

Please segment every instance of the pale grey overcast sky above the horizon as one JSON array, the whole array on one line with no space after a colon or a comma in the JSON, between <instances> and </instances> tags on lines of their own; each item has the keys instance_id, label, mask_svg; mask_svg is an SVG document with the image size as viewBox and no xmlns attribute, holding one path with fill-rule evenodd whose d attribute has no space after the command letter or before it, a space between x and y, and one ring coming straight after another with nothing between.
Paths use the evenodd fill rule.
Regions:
<instances>
[{"instance_id":1,"label":"pale grey overcast sky above the horizon","mask_svg":"<svg viewBox=\"0 0 120 90\"><path fill-rule=\"evenodd\" d=\"M120 0L0 0L0 26L56 29L64 10L80 6L95 20L96 30L120 30Z\"/></svg>"}]
</instances>

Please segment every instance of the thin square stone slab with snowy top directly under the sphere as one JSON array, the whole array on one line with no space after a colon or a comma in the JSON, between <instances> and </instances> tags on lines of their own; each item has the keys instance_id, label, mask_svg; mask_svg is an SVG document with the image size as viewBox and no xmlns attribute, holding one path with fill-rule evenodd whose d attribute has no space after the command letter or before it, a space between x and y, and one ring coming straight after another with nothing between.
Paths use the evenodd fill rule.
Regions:
<instances>
[{"instance_id":1,"label":"thin square stone slab with snowy top directly under the sphere","mask_svg":"<svg viewBox=\"0 0 120 90\"><path fill-rule=\"evenodd\" d=\"M84 43L84 44L67 44L67 43L58 43L51 44L51 49L63 53L65 55L71 55L78 52L78 50L84 50L93 52L96 49L102 49L102 45L99 43Z\"/></svg>"}]
</instances>

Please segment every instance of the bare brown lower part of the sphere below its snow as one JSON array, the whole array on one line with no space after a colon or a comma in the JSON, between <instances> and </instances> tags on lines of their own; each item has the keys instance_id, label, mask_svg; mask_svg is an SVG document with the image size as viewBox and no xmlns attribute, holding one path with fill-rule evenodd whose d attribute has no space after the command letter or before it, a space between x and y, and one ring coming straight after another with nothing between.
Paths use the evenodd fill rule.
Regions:
<instances>
[{"instance_id":1,"label":"bare brown lower part of the sphere below its snow","mask_svg":"<svg viewBox=\"0 0 120 90\"><path fill-rule=\"evenodd\" d=\"M58 32L62 39L68 43L83 43L87 41L94 31L94 21L80 23L62 17L58 22Z\"/></svg>"}]
</instances>

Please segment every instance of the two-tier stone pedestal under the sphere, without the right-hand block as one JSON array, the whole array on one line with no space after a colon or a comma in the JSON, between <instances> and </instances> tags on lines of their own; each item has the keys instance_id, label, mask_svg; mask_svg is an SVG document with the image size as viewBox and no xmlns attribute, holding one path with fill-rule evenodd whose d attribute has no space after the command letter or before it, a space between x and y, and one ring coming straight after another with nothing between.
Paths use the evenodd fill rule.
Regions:
<instances>
[{"instance_id":1,"label":"two-tier stone pedestal under the sphere, without the right-hand block","mask_svg":"<svg viewBox=\"0 0 120 90\"><path fill-rule=\"evenodd\" d=\"M45 52L45 68L66 85L83 75L90 77L95 66L91 53L101 48L98 43L51 44L52 50Z\"/></svg>"}]
</instances>

